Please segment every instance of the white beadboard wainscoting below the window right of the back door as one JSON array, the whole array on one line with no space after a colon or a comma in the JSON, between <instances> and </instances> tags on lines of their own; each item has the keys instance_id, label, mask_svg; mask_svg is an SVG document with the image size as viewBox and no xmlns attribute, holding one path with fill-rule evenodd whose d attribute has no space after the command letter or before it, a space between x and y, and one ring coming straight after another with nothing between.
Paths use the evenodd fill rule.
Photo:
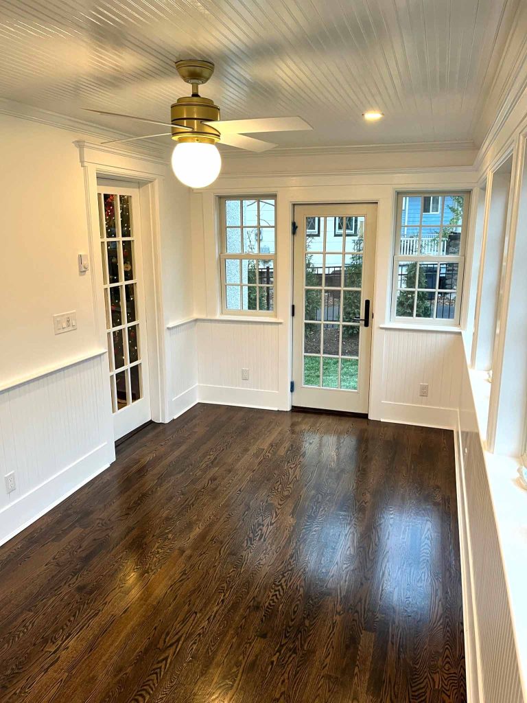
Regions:
<instances>
[{"instance_id":1,"label":"white beadboard wainscoting below the window right of the back door","mask_svg":"<svg viewBox=\"0 0 527 703\"><path fill-rule=\"evenodd\" d=\"M379 337L382 378L379 384L372 373L370 417L454 429L460 389L460 333L383 325L377 330L376 343ZM419 396L422 383L428 384L427 397Z\"/></svg>"}]
</instances>

